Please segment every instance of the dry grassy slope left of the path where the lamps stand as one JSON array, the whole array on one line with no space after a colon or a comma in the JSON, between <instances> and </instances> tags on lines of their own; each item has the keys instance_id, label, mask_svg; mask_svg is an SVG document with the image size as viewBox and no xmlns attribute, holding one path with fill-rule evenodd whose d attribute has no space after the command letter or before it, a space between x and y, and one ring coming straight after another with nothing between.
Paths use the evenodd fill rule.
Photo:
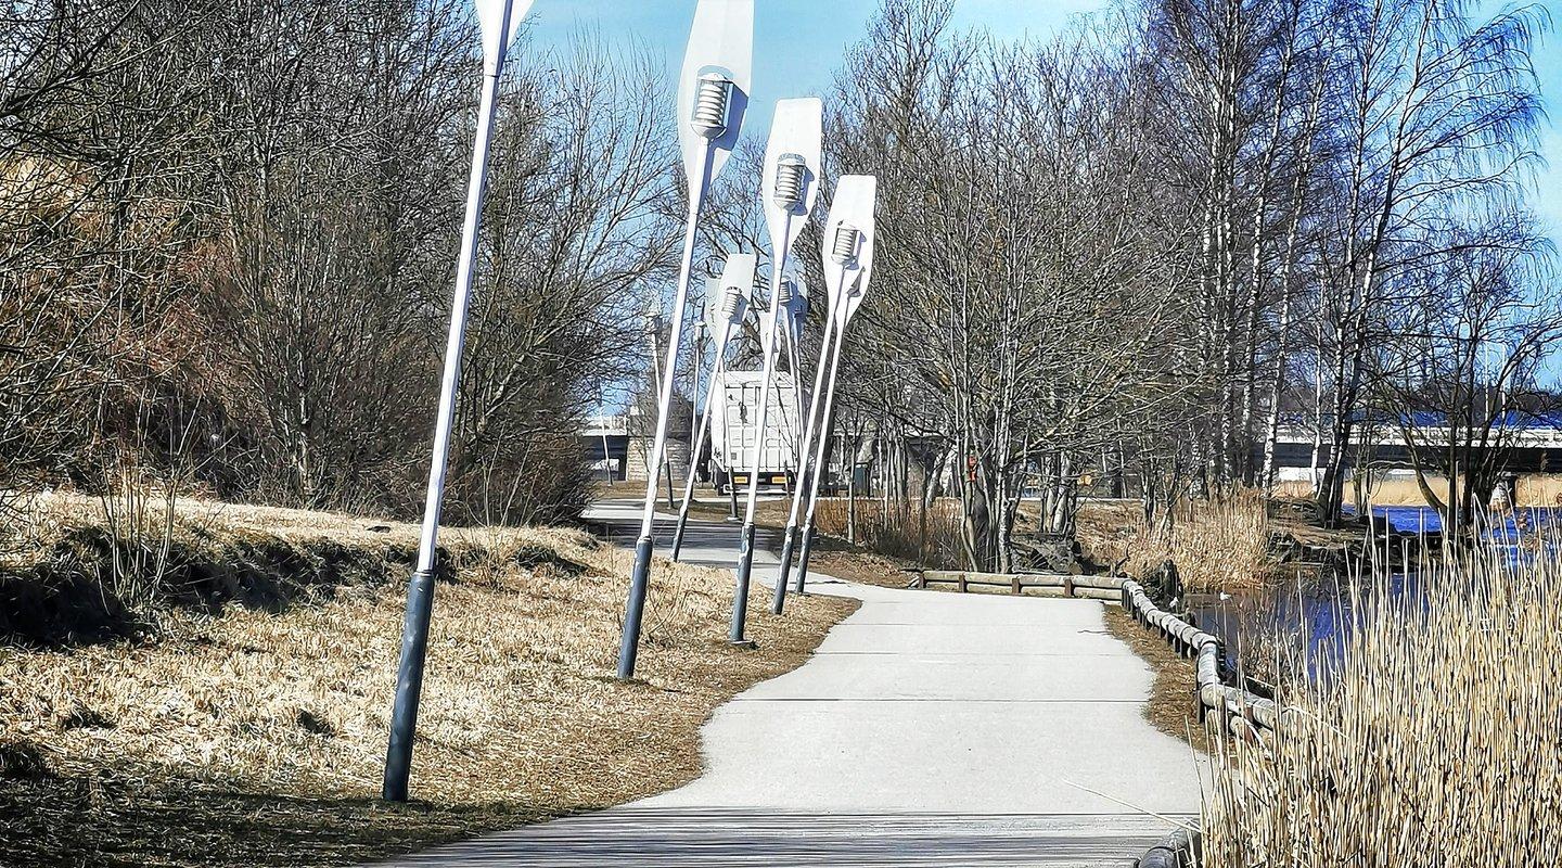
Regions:
<instances>
[{"instance_id":1,"label":"dry grassy slope left of the path where the lamps stand","mask_svg":"<svg viewBox=\"0 0 1562 868\"><path fill-rule=\"evenodd\" d=\"M698 774L717 704L851 609L773 618L758 589L759 646L734 649L729 575L664 564L623 684L623 551L447 531L414 802L387 806L417 529L181 501L164 550L162 518L48 498L0 539L0 865L347 865L665 790Z\"/></svg>"}]
</instances>

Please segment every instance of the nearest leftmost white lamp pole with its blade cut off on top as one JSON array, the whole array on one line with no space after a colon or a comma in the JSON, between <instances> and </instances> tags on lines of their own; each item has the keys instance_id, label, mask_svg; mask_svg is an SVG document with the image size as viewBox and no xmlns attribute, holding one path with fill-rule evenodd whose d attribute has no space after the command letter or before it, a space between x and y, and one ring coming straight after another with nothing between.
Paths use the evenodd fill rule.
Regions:
<instances>
[{"instance_id":1,"label":"nearest leftmost white lamp pole with its blade cut off on top","mask_svg":"<svg viewBox=\"0 0 1562 868\"><path fill-rule=\"evenodd\" d=\"M439 411L434 417L434 456L423 500L423 532L417 542L417 570L406 585L406 621L401 626L401 660L397 667L395 703L390 709L390 743L386 748L386 774L381 795L386 801L406 801L412 773L412 732L417 703L423 690L423 659L428 654L428 621L434 614L434 556L439 543L439 509L445 493L445 464L450 459L450 429L456 417L456 382L461 378L461 347L467 334L467 303L472 297L472 269L476 261L478 222L483 217L483 189L487 170L489 134L494 130L494 103L505 55L531 0L476 0L483 27L483 97L478 103L478 131L472 145L472 175L467 178L467 214L461 225L461 254L456 259L456 295L450 309L450 337L445 342L445 373L439 381Z\"/></svg>"}]
</instances>

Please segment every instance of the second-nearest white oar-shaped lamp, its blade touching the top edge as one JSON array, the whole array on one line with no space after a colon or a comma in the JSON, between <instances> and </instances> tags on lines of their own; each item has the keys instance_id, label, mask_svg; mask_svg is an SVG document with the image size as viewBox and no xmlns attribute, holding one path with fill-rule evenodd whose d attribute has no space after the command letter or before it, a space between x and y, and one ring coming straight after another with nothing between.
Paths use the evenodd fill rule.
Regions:
<instances>
[{"instance_id":1,"label":"second-nearest white oar-shaped lamp, its blade touching the top edge","mask_svg":"<svg viewBox=\"0 0 1562 868\"><path fill-rule=\"evenodd\" d=\"M673 398L673 370L683 340L684 303L689 298L689 270L694 264L695 226L711 181L722 172L737 144L737 133L748 108L750 62L754 42L753 0L700 0L689 31L683 75L678 80L678 144L683 147L684 180L689 184L689 217L684 229L683 262L673 293L672 336L667 364L658 393L656 437L647 467L659 467L667 450L667 412ZM619 678L634 678L634 657L640 648L640 620L651 575L651 529L656 517L656 478L645 484L645 512L640 539L634 546L629 573L629 599L623 610L623 642L619 645Z\"/></svg>"}]
</instances>

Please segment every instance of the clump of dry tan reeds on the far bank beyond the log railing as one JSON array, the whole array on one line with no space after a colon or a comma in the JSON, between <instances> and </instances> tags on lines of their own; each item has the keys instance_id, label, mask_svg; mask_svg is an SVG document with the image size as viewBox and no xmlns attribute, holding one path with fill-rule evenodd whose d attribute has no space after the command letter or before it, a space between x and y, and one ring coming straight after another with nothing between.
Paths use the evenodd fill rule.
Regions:
<instances>
[{"instance_id":1,"label":"clump of dry tan reeds on the far bank beyond the log railing","mask_svg":"<svg viewBox=\"0 0 1562 868\"><path fill-rule=\"evenodd\" d=\"M1081 548L1098 564L1123 564L1125 573L1143 576L1170 559L1189 590L1251 589L1273 576L1270 520L1254 490L1178 504L1170 529L1147 525L1137 509L1125 514L1131 506L1101 509L1079 520Z\"/></svg>"}]
</instances>

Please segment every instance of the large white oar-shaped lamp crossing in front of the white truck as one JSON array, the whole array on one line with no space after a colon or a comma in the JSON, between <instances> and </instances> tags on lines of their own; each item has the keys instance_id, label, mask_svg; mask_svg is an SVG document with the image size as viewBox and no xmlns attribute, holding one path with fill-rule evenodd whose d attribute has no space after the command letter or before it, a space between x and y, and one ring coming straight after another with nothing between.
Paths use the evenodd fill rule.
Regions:
<instances>
[{"instance_id":1,"label":"large white oar-shaped lamp crossing in front of the white truck","mask_svg":"<svg viewBox=\"0 0 1562 868\"><path fill-rule=\"evenodd\" d=\"M783 290L787 254L803 233L808 214L818 197L818 155L823 133L823 103L817 97L781 100L770 122L770 144L765 147L764 176L759 195L770 229L770 309L759 329L764 373L759 379L759 407L754 425L753 454L748 459L748 503L744 512L742 543L737 554L737 589L733 598L733 629L729 640L744 642L748 618L748 582L754 565L754 507L759 503L759 470L765 454L765 417L770 412L770 382L775 379L776 320L783 315ZM790 311L786 311L790 317Z\"/></svg>"}]
</instances>

